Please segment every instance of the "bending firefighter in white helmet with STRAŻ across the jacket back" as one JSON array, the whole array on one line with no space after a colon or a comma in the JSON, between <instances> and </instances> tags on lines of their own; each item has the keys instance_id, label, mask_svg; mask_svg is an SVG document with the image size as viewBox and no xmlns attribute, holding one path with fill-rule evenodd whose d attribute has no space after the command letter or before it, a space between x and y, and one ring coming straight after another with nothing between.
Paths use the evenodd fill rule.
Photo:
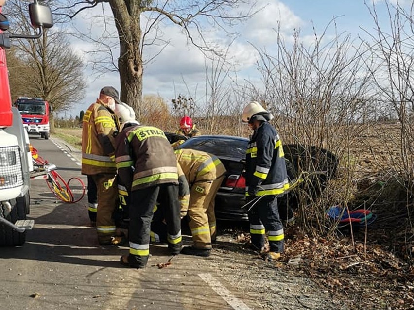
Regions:
<instances>
[{"instance_id":1,"label":"bending firefighter in white helmet with STRA\u017b across the jacket back","mask_svg":"<svg viewBox=\"0 0 414 310\"><path fill-rule=\"evenodd\" d=\"M123 124L116 139L115 161L130 197L129 255L122 255L120 262L144 268L150 255L150 225L157 199L164 206L171 254L180 253L182 247L177 160L162 130L139 125L128 109L119 108Z\"/></svg>"}]
</instances>

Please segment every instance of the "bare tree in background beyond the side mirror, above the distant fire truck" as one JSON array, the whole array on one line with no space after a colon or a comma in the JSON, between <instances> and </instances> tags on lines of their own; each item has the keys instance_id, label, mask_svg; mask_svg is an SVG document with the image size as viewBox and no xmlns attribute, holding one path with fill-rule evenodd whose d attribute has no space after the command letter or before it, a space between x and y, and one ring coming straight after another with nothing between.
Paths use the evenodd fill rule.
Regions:
<instances>
[{"instance_id":1,"label":"bare tree in background beyond the side mirror, above the distant fire truck","mask_svg":"<svg viewBox=\"0 0 414 310\"><path fill-rule=\"evenodd\" d=\"M25 3L9 0L5 11L13 32L33 33ZM59 30L45 30L36 40L16 39L16 55L26 65L24 94L48 100L55 111L69 110L86 88L82 60Z\"/></svg>"}]
</instances>

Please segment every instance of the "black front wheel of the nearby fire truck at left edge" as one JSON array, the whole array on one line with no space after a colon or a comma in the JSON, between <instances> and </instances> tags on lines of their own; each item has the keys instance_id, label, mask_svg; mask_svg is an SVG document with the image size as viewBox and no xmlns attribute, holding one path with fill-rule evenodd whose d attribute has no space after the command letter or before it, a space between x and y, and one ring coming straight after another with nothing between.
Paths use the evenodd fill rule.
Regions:
<instances>
[{"instance_id":1,"label":"black front wheel of the nearby fire truck at left edge","mask_svg":"<svg viewBox=\"0 0 414 310\"><path fill-rule=\"evenodd\" d=\"M12 211L5 211L5 207L2 207L2 212L6 214L6 219L12 223L16 223L17 220L26 219L26 210L25 210L25 201L26 197L21 197L20 199L10 200L12 205ZM26 231L17 232L11 227L0 224L0 246L15 246L22 245L26 241Z\"/></svg>"}]
</instances>

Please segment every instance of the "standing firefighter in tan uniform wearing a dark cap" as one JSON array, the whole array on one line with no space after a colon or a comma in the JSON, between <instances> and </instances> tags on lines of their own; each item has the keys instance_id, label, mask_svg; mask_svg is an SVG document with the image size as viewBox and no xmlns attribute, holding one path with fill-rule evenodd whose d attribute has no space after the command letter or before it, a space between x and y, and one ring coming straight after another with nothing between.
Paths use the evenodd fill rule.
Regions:
<instances>
[{"instance_id":1,"label":"standing firefighter in tan uniform wearing a dark cap","mask_svg":"<svg viewBox=\"0 0 414 310\"><path fill-rule=\"evenodd\" d=\"M100 245L122 241L112 219L118 204L114 156L115 136L120 129L114 113L115 104L120 102L118 97L114 87L105 86L82 119L82 174L91 176L97 187L96 229Z\"/></svg>"}]
</instances>

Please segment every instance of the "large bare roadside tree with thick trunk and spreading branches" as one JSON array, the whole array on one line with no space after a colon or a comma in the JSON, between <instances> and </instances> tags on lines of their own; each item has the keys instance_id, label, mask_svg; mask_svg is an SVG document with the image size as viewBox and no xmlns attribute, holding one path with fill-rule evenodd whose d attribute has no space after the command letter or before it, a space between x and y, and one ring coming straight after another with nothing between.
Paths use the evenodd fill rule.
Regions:
<instances>
[{"instance_id":1,"label":"large bare roadside tree with thick trunk and spreading branches","mask_svg":"<svg viewBox=\"0 0 414 310\"><path fill-rule=\"evenodd\" d=\"M80 11L104 2L111 7L118 32L121 100L131 105L140 116L143 53L148 45L158 44L159 53L168 44L170 39L160 36L162 26L177 25L191 44L202 51L220 54L217 45L208 41L206 33L214 28L234 35L233 27L253 14L256 0L71 0L56 13L73 18ZM142 16L148 21L144 28L141 28Z\"/></svg>"}]
</instances>

